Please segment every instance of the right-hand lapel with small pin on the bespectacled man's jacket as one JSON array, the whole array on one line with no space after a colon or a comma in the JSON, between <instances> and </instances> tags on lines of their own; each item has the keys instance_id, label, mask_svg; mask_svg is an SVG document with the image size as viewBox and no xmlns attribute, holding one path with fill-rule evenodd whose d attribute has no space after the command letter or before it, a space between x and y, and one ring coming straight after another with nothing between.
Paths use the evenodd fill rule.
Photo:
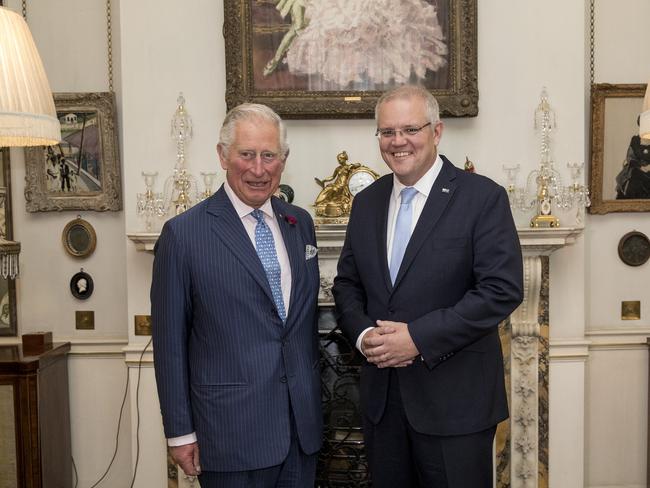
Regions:
<instances>
[{"instance_id":1,"label":"right-hand lapel with small pin on the bespectacled man's jacket","mask_svg":"<svg viewBox=\"0 0 650 488\"><path fill-rule=\"evenodd\" d=\"M399 272L395 278L393 289L397 288L399 285L401 279L404 277L413 263L413 260L417 256L422 244L424 244L426 239L429 238L433 228L438 223L438 220L440 220L440 217L445 212L449 202L454 196L454 191L456 190L456 184L454 182L456 179L456 175L454 174L455 169L447 158L444 156L441 157L443 158L442 169L431 188L431 192L424 204L418 223L416 224L415 229L413 229L411 239L406 246L404 259L402 259L402 264L400 265Z\"/></svg>"}]
</instances>

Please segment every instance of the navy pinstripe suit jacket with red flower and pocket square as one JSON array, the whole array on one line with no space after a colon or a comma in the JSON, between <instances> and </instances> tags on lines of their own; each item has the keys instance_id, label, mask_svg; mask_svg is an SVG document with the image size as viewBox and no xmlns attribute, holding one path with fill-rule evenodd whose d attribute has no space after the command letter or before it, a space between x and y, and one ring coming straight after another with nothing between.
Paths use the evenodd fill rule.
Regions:
<instances>
[{"instance_id":1,"label":"navy pinstripe suit jacket with red flower and pocket square","mask_svg":"<svg viewBox=\"0 0 650 488\"><path fill-rule=\"evenodd\" d=\"M223 187L170 219L156 244L151 314L165 436L195 431L204 471L281 463L290 409L302 449L321 445L318 259L305 255L316 246L313 222L275 197L272 206L291 264L284 325Z\"/></svg>"}]
</instances>

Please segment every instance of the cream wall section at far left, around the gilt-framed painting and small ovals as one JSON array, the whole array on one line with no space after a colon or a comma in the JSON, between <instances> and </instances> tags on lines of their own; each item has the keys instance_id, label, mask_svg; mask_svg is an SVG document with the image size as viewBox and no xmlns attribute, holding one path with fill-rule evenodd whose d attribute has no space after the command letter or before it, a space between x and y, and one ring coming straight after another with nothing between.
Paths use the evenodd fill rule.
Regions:
<instances>
[{"instance_id":1,"label":"cream wall section at far left, around the gilt-framed painting and small ovals","mask_svg":"<svg viewBox=\"0 0 650 488\"><path fill-rule=\"evenodd\" d=\"M19 9L20 2L5 2ZM108 91L105 4L84 0L28 2L28 23L54 92ZM57 338L116 338L126 335L124 212L25 211L24 164L12 150L14 236L22 243L17 281L20 332L52 330ZM87 259L69 256L61 232L77 215L97 233L97 248ZM93 295L75 299L69 291L80 268L95 284ZM95 311L95 330L75 330L75 310Z\"/></svg>"}]
</instances>

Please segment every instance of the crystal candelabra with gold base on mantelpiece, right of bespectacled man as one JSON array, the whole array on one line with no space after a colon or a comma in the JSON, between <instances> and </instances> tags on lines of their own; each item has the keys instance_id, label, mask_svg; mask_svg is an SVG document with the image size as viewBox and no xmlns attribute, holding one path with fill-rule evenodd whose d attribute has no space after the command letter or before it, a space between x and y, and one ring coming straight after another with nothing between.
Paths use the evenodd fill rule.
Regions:
<instances>
[{"instance_id":1,"label":"crystal candelabra with gold base on mantelpiece, right of bespectacled man","mask_svg":"<svg viewBox=\"0 0 650 488\"><path fill-rule=\"evenodd\" d=\"M584 163L568 163L571 172L571 185L562 184L562 176L554 168L551 157L551 132L557 127L555 112L548 102L546 88L542 89L541 100L535 110L535 129L540 131L539 168L531 171L523 187L517 186L519 164L503 165L506 173L510 207L521 212L535 209L536 215L531 219L531 227L559 227L560 220L553 215L553 209L570 210L576 208L576 222L582 223L585 207L591 202L589 190L582 182Z\"/></svg>"}]
</instances>

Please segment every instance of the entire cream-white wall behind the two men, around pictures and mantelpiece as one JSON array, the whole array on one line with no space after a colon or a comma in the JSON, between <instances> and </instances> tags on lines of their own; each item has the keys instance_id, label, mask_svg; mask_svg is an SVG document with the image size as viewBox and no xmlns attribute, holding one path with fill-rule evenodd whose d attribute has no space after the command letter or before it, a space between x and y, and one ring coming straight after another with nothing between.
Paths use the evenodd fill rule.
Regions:
<instances>
[{"instance_id":1,"label":"entire cream-white wall behind the two men, around pictures and mantelpiece","mask_svg":"<svg viewBox=\"0 0 650 488\"><path fill-rule=\"evenodd\" d=\"M20 9L19 0L7 3ZM502 165L520 163L522 181L539 161L539 136L532 120L540 91L546 86L558 121L553 155L556 167L568 178L566 163L588 158L588 2L477 3L479 115L446 119L441 152L458 165L469 156L478 172L502 183ZM596 2L596 81L638 83L650 78L647 56L636 49L648 45L650 34L644 19L649 17L650 4L646 0L623 3L624 8L621 2ZM105 91L105 2L30 0L28 9L53 90ZM89 347L91 351L70 362L73 451L86 481L109 460L108 439L115 435L115 412L122 399L124 377L123 363L119 365L115 354L124 341L128 340L133 354L147 340L134 335L133 315L149 313L152 257L136 252L125 237L127 232L144 230L135 214L135 194L144 189L141 172L158 171L161 188L173 168L175 147L169 123L178 92L184 93L194 122L187 162L195 175L218 170L214 146L225 115L221 1L113 0L113 16L124 211L82 213L97 231L93 256L74 260L60 244L61 230L76 217L75 212L25 212L22 154L12 151L15 236L23 244L19 333L50 329L56 338L75 342L78 350ZM625 26L624 35L621 26ZM309 207L313 202L319 189L313 177L329 175L342 149L352 160L386 172L371 120L289 121L287 125L291 156L283 180L296 191L299 205ZM220 175L218 182L222 181ZM525 226L530 216L516 217ZM630 327L650 331L650 315L644 313L643 303L641 321L620 321L620 300L643 301L640 290L648 289L648 265L645 269L628 268L616 256L616 243L623 233L632 228L650 232L644 217L588 216L583 237L551 257L551 486L645 483L642 441L647 430L647 353L634 345L642 334L633 339L626 336L629 351L601 347L590 354L588 350L588 341L595 341L594 334L603 329L605 335L597 336L599 344L619 341L618 334ZM562 215L562 219L563 225L574 225L572 216ZM80 267L95 280L95 293L85 302L68 292L69 279ZM94 331L75 330L74 310L79 309L95 310ZM89 341L94 345L84 345ZM110 360L99 352L102 347L111 351ZM626 377L619 387L629 393L625 408L611 394L619 374ZM140 399L147 412L149 444L141 453L147 470L138 476L137 486L153 486L164 479L164 467L159 464L164 443L151 371L145 371L143 377L146 394L141 392ZM98 390L97 384L103 389ZM96 408L99 403L105 408ZM125 442L116 460L119 473L130 472L134 464L133 389L128 405L128 431L120 438ZM98 438L101 445L96 443ZM603 443L618 446L629 439L638 455L608 460ZM113 475L116 485L124 484L128 475L117 472ZM156 481L148 484L152 480Z\"/></svg>"}]
</instances>

